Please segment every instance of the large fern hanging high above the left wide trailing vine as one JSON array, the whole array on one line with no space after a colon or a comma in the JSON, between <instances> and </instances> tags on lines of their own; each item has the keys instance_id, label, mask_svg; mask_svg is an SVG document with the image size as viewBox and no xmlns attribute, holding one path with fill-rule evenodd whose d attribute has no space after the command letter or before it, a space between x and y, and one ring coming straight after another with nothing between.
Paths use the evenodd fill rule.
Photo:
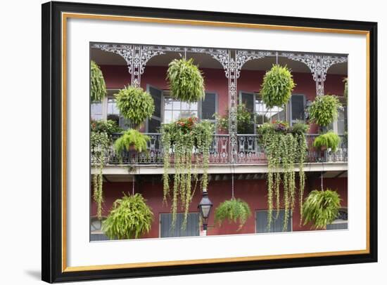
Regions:
<instances>
[{"instance_id":1,"label":"large fern hanging high above the left wide trailing vine","mask_svg":"<svg viewBox=\"0 0 387 285\"><path fill-rule=\"evenodd\" d=\"M204 99L204 79L201 70L194 65L194 60L175 59L167 70L170 91L173 98L184 102L198 102Z\"/></svg>"}]
</instances>

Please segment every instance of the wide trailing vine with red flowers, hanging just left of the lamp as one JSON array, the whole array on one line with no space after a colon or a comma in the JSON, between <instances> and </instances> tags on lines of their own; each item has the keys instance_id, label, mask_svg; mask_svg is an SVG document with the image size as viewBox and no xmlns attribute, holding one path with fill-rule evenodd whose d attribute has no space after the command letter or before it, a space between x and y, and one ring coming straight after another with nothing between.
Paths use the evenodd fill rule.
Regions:
<instances>
[{"instance_id":1,"label":"wide trailing vine with red flowers, hanging just left of the lamp","mask_svg":"<svg viewBox=\"0 0 387 285\"><path fill-rule=\"evenodd\" d=\"M170 161L173 153L173 164L175 174L173 176L172 187L172 227L175 226L177 217L177 206L181 205L184 211L182 227L186 226L189 204L194 195L192 190L192 178L195 185L198 180L196 169L203 168L201 176L201 188L208 186L208 160L210 155L210 145L212 143L212 133L214 127L208 121L196 122L196 118L180 119L172 124L163 124L161 127L161 141L164 153L164 173L163 173L163 201L167 201L170 196ZM194 162L194 175L192 175L192 163Z\"/></svg>"}]
</instances>

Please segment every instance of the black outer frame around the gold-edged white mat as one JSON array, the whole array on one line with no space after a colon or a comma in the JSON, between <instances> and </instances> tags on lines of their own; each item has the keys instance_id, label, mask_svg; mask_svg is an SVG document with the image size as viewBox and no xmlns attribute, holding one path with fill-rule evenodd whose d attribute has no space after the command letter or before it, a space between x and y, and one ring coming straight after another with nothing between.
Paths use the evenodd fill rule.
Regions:
<instances>
[{"instance_id":1,"label":"black outer frame around the gold-edged white mat","mask_svg":"<svg viewBox=\"0 0 387 285\"><path fill-rule=\"evenodd\" d=\"M62 272L61 13L243 22L369 32L369 253L198 265ZM42 4L42 280L47 282L262 270L377 261L377 23L274 15L48 2Z\"/></svg>"}]
</instances>

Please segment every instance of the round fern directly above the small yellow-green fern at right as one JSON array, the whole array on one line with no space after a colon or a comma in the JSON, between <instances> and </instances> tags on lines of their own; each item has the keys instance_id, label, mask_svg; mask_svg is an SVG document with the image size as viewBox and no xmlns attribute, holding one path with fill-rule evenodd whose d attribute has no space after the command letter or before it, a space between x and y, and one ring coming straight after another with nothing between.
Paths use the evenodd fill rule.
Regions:
<instances>
[{"instance_id":1,"label":"round fern directly above the small yellow-green fern at right","mask_svg":"<svg viewBox=\"0 0 387 285\"><path fill-rule=\"evenodd\" d=\"M336 95L317 96L309 107L310 120L319 126L328 126L337 119L341 103Z\"/></svg>"}]
</instances>

